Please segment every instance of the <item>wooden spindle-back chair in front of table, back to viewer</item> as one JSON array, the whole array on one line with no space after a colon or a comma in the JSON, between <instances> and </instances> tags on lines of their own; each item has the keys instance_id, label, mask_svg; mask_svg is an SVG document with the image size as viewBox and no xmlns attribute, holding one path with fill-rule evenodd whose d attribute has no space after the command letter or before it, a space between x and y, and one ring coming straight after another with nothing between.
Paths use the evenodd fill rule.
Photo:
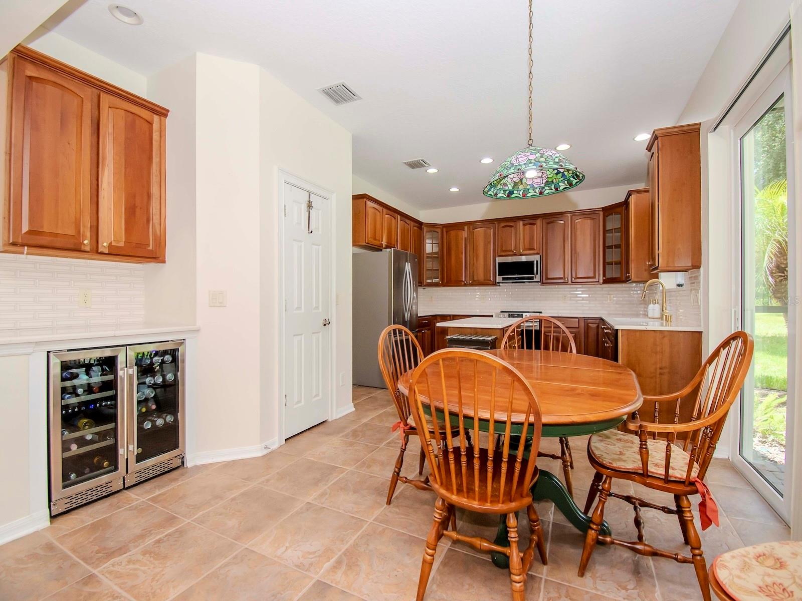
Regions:
<instances>
[{"instance_id":1,"label":"wooden spindle-back chair in front of table, back to viewer","mask_svg":"<svg viewBox=\"0 0 802 601\"><path fill-rule=\"evenodd\" d=\"M506 555L512 599L524 601L526 575L535 545L541 561L546 563L543 527L531 491L538 476L537 448L542 426L541 409L532 386L512 365L488 353L444 349L418 365L409 390L412 413L431 472L429 481L437 494L434 522L421 562L417 600L422 601L426 593L437 543L446 536L479 551ZM525 405L521 405L521 397ZM513 411L514 400L518 413ZM485 410L489 426L487 434L480 436L484 430L480 429L482 419L478 416ZM503 419L498 419L502 413ZM456 507L505 515L508 546L466 536L456 529L446 530ZM523 553L518 547L519 510L526 510L531 530L529 546Z\"/></svg>"}]
</instances>

